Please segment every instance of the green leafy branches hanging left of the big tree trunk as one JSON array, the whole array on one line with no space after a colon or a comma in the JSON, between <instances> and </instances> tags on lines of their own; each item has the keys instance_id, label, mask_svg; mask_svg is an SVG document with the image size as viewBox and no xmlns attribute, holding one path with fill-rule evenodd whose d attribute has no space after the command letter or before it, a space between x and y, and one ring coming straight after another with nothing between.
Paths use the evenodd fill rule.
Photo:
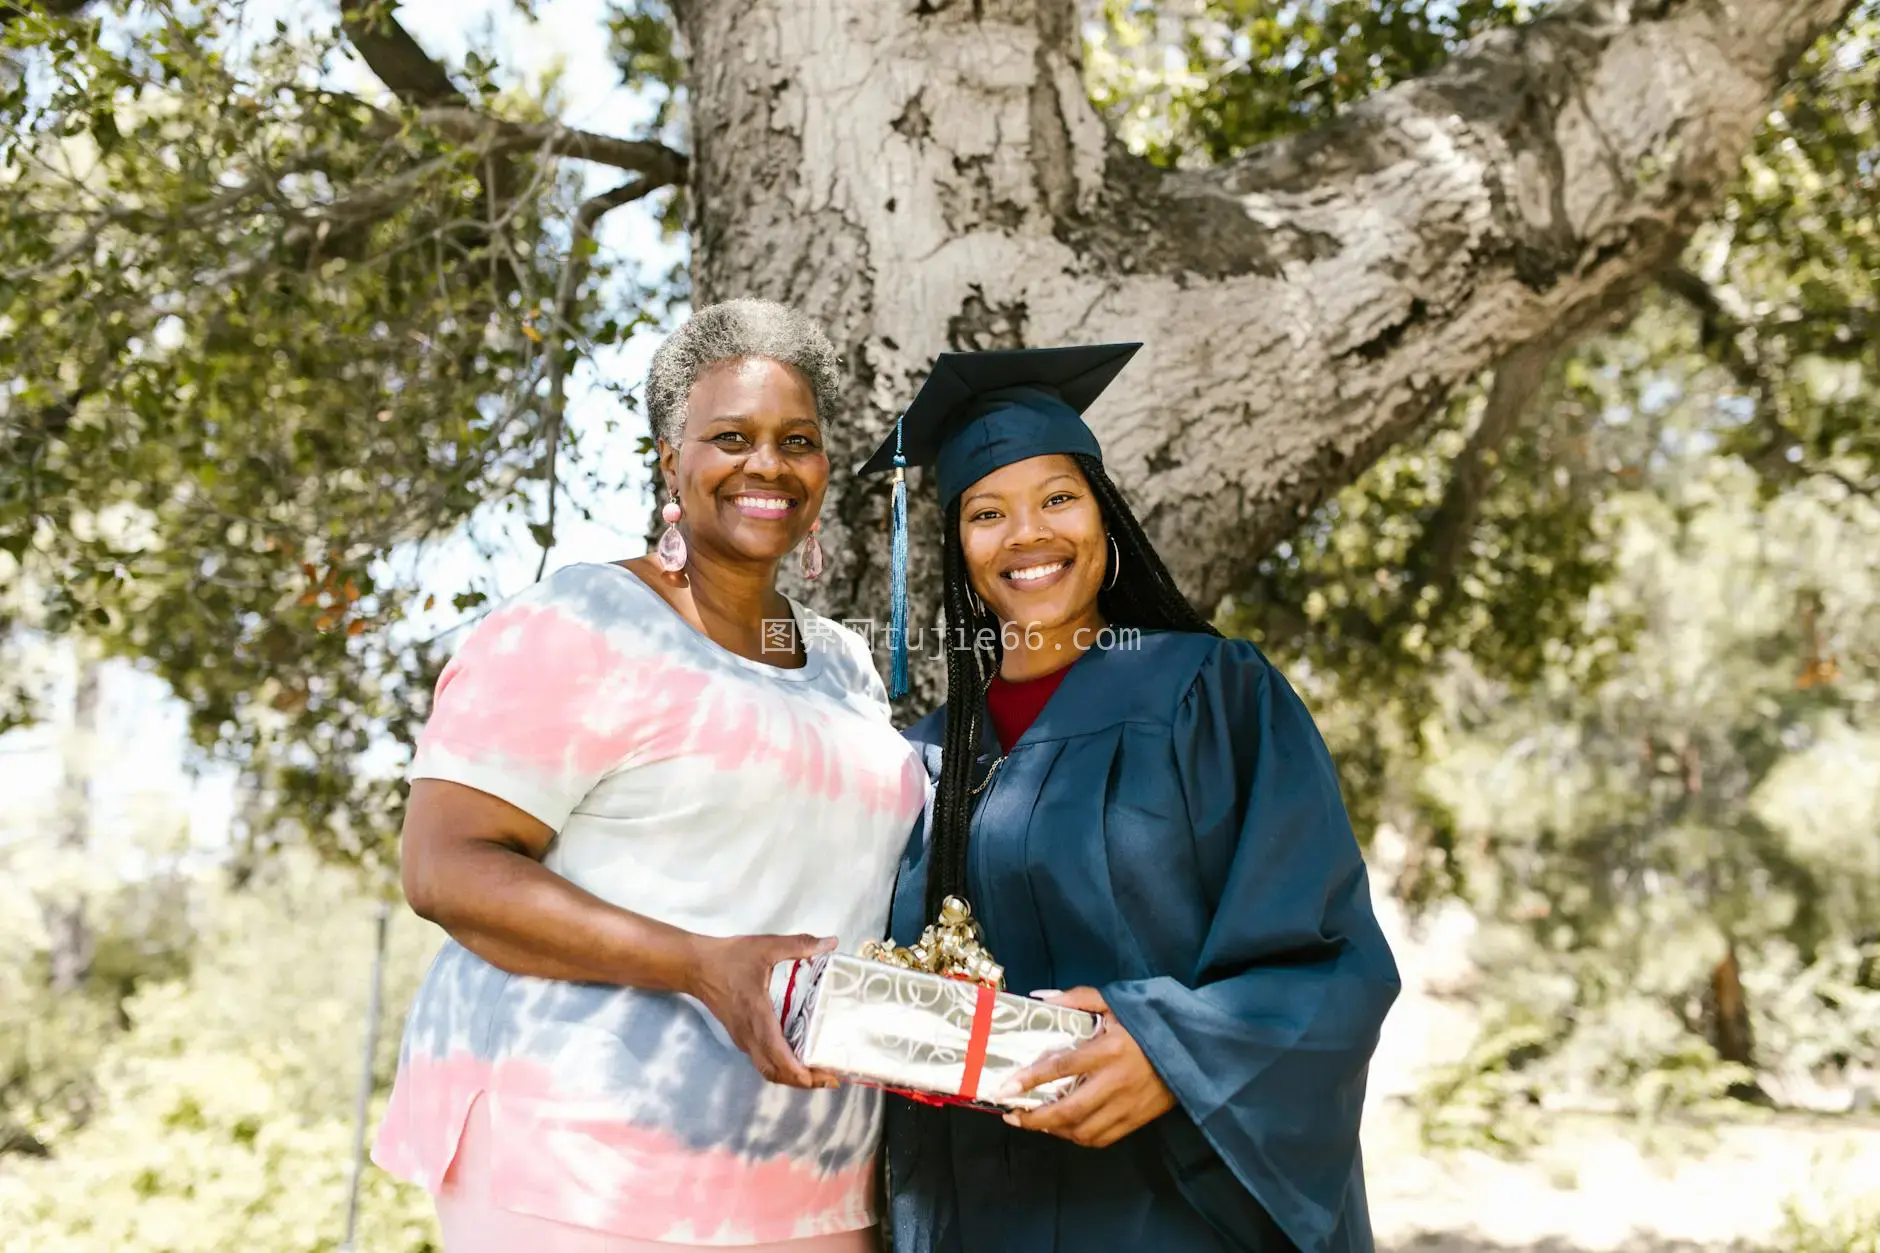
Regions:
<instances>
[{"instance_id":1,"label":"green leafy branches hanging left of the big tree trunk","mask_svg":"<svg viewBox=\"0 0 1880 1253\"><path fill-rule=\"evenodd\" d=\"M491 506L549 544L568 373L647 316L598 299L592 226L681 166L342 9L0 26L0 611L154 670L197 743L363 856L393 798L353 766L438 664L423 549ZM393 92L335 88L348 49ZM566 158L626 177L577 203Z\"/></svg>"}]
</instances>

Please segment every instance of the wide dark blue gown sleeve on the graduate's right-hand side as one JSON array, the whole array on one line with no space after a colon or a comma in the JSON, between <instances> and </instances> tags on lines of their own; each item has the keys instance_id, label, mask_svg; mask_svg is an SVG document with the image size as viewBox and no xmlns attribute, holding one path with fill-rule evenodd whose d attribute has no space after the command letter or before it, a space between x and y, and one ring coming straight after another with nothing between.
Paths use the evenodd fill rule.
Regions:
<instances>
[{"instance_id":1,"label":"wide dark blue gown sleeve on the graduate's right-hand side","mask_svg":"<svg viewBox=\"0 0 1880 1253\"><path fill-rule=\"evenodd\" d=\"M1245 642L1201 666L1173 736L1213 922L1188 978L1102 990L1181 1106L1151 1131L1245 1247L1275 1225L1307 1253L1363 1247L1365 1072L1401 984L1331 756Z\"/></svg>"}]
</instances>

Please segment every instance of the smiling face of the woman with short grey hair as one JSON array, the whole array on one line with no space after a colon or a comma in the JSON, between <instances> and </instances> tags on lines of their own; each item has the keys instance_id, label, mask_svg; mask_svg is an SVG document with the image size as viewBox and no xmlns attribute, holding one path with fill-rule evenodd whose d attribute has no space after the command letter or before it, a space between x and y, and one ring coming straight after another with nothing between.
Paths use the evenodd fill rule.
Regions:
<instances>
[{"instance_id":1,"label":"smiling face of the woman with short grey hair","mask_svg":"<svg viewBox=\"0 0 1880 1253\"><path fill-rule=\"evenodd\" d=\"M660 474L684 510L686 546L780 561L808 534L829 487L808 380L767 357L722 361L692 384L684 414L679 444L660 440Z\"/></svg>"}]
</instances>

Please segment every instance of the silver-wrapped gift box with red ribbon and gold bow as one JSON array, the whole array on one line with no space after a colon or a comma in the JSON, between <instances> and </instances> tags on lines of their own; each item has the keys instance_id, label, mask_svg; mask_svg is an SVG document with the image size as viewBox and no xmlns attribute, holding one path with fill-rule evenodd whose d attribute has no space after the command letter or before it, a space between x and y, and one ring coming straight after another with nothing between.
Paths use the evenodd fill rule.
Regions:
<instances>
[{"instance_id":1,"label":"silver-wrapped gift box with red ribbon and gold bow","mask_svg":"<svg viewBox=\"0 0 1880 1253\"><path fill-rule=\"evenodd\" d=\"M1034 1061L1098 1031L1096 1014L1000 991L1004 971L978 939L964 901L912 948L797 961L784 993L784 1037L803 1063L916 1101L1028 1110L1075 1080L1000 1091Z\"/></svg>"}]
</instances>

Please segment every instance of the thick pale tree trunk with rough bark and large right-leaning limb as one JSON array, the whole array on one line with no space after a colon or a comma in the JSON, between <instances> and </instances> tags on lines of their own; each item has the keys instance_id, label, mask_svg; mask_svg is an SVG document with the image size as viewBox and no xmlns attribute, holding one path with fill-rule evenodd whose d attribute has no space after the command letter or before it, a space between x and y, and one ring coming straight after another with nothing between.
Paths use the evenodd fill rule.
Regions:
<instances>
[{"instance_id":1,"label":"thick pale tree trunk with rough bark and large right-leaning limb","mask_svg":"<svg viewBox=\"0 0 1880 1253\"><path fill-rule=\"evenodd\" d=\"M1214 604L1453 388L1671 263L1850 8L1568 0L1322 132L1162 173L1085 96L1075 0L681 0L696 292L829 325L838 467L936 352L1145 341L1094 425ZM810 598L880 615L885 491L838 474L823 517Z\"/></svg>"}]
</instances>

